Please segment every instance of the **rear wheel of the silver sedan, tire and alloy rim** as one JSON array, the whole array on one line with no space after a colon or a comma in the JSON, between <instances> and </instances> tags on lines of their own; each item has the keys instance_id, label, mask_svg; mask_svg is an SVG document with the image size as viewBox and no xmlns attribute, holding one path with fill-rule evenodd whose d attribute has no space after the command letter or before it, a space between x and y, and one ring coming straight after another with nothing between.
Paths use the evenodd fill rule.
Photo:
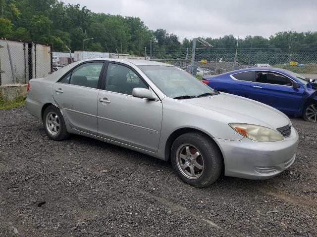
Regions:
<instances>
[{"instance_id":1,"label":"rear wheel of the silver sedan, tire and alloy rim","mask_svg":"<svg viewBox=\"0 0 317 237\"><path fill-rule=\"evenodd\" d=\"M70 136L59 109L53 105L45 109L43 114L43 125L49 138L61 141Z\"/></svg>"}]
</instances>

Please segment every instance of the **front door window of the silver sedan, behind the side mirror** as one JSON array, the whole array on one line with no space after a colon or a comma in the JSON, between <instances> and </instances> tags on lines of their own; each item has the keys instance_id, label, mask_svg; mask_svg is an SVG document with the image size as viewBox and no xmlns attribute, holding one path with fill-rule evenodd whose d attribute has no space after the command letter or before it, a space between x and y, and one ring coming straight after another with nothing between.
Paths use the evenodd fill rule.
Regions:
<instances>
[{"instance_id":1,"label":"front door window of the silver sedan, behind the side mirror","mask_svg":"<svg viewBox=\"0 0 317 237\"><path fill-rule=\"evenodd\" d=\"M148 86L128 67L109 63L106 74L106 90L132 95L133 88Z\"/></svg>"}]
</instances>

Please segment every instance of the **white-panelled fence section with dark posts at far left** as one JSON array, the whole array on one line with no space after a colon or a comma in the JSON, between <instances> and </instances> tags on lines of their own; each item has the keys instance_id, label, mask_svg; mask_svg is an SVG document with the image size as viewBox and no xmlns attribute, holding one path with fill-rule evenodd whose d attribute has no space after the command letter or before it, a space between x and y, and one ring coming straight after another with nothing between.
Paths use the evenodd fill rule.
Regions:
<instances>
[{"instance_id":1,"label":"white-panelled fence section with dark posts at far left","mask_svg":"<svg viewBox=\"0 0 317 237\"><path fill-rule=\"evenodd\" d=\"M27 84L52 70L50 45L0 38L0 85Z\"/></svg>"}]
</instances>

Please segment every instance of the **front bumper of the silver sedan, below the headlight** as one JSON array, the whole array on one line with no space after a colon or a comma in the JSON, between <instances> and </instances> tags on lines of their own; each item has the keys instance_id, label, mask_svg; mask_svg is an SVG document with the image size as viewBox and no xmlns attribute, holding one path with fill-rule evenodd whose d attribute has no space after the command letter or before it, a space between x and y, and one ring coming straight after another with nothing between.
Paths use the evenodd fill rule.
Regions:
<instances>
[{"instance_id":1,"label":"front bumper of the silver sedan, below the headlight","mask_svg":"<svg viewBox=\"0 0 317 237\"><path fill-rule=\"evenodd\" d=\"M280 142L215 139L224 159L224 174L245 179L268 179L288 167L296 157L298 133L292 127L289 137Z\"/></svg>"}]
</instances>

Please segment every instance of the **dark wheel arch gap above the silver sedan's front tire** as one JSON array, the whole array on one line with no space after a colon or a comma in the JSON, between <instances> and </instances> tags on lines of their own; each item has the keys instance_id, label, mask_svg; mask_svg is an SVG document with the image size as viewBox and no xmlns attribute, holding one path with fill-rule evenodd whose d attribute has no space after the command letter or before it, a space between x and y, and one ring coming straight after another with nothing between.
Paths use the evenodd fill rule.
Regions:
<instances>
[{"instance_id":1,"label":"dark wheel arch gap above the silver sedan's front tire","mask_svg":"<svg viewBox=\"0 0 317 237\"><path fill-rule=\"evenodd\" d=\"M205 136L209 137L211 142L213 142L217 148L219 149L219 152L221 154L221 160L222 160L222 172L221 173L224 173L224 158L223 158L223 153L219 147L219 145L217 144L217 142L211 137L211 135L207 134L206 132L204 131L201 131L197 128L192 128L192 127L182 127L182 128L178 128L176 129L175 131L173 131L169 137L167 138L166 140L166 143L165 143L165 151L164 151L164 157L166 160L170 160L170 152L171 152L171 148L172 148L172 145L174 143L174 141L176 140L177 137L185 134L185 133L188 133L188 132L197 132L197 133L201 133L201 134L204 134Z\"/></svg>"}]
</instances>

